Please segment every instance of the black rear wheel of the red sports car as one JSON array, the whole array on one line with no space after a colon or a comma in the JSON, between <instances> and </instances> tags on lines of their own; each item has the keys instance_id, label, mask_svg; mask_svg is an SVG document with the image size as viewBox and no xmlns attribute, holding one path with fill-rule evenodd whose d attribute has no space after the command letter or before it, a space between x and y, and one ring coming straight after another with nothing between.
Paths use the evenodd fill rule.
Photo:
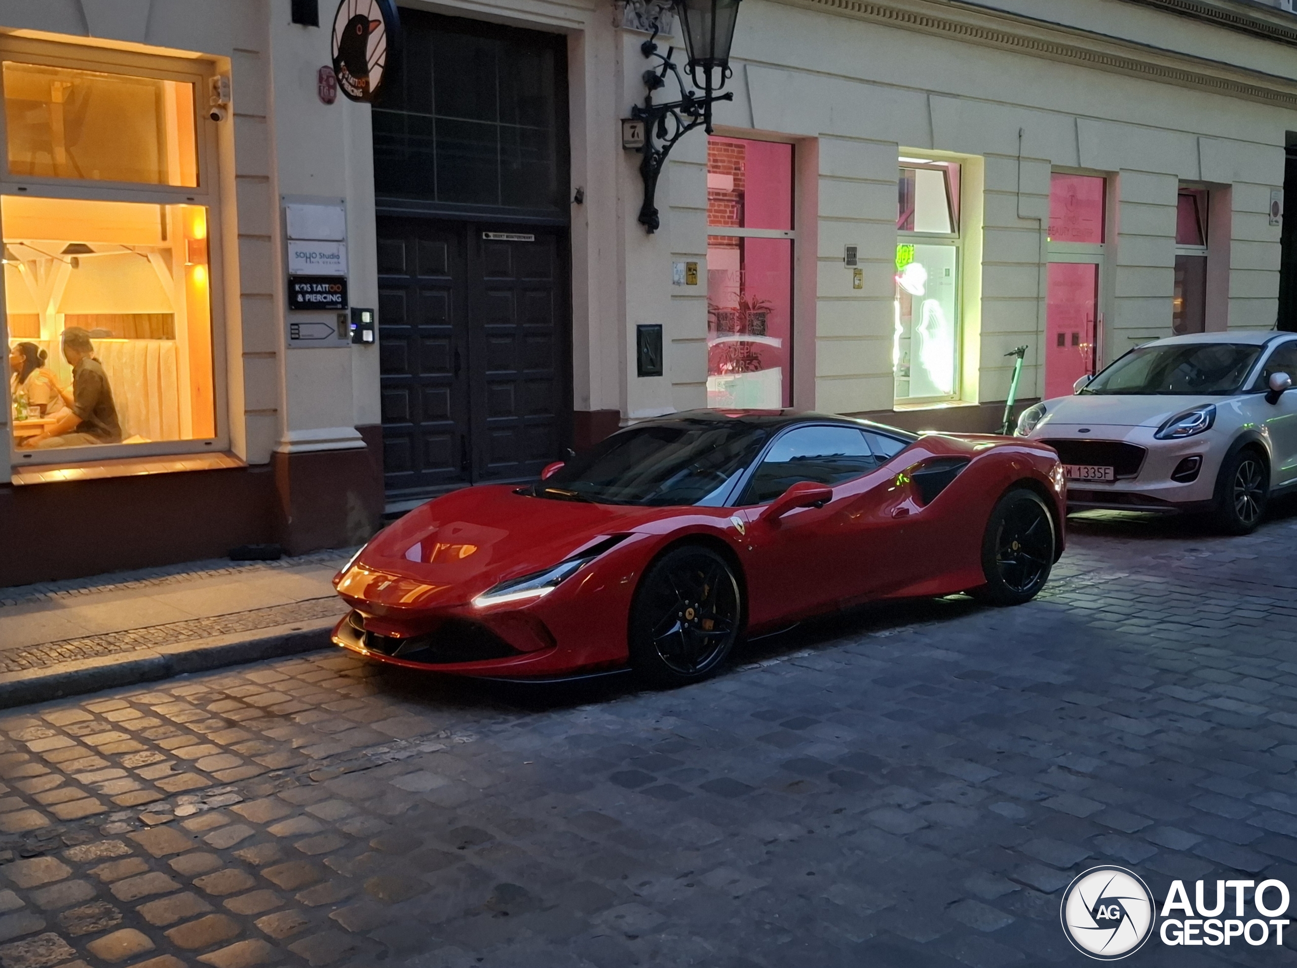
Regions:
<instances>
[{"instance_id":1,"label":"black rear wheel of the red sports car","mask_svg":"<svg viewBox=\"0 0 1297 968\"><path fill-rule=\"evenodd\" d=\"M987 605L1022 605L1049 580L1057 535L1048 505L1027 488L1005 493L991 511L982 536L986 584L970 594Z\"/></svg>"}]
</instances>

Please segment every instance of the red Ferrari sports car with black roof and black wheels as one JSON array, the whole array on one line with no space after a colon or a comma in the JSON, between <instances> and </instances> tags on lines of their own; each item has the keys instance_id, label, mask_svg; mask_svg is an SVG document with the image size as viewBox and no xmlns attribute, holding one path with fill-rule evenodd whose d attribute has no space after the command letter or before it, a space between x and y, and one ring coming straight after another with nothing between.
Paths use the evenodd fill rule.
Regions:
<instances>
[{"instance_id":1,"label":"red Ferrari sports car with black roof and black wheels","mask_svg":"<svg viewBox=\"0 0 1297 968\"><path fill-rule=\"evenodd\" d=\"M333 641L460 675L690 683L744 635L857 602L1026 602L1062 553L1065 490L1022 437L682 413L401 518L335 579Z\"/></svg>"}]
</instances>

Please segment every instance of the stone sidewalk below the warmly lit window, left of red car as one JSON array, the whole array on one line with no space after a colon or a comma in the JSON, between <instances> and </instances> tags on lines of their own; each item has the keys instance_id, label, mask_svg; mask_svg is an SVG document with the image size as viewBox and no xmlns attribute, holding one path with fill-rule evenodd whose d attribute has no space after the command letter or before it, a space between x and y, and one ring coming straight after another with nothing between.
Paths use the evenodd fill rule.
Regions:
<instances>
[{"instance_id":1,"label":"stone sidewalk below the warmly lit window, left of red car","mask_svg":"<svg viewBox=\"0 0 1297 968\"><path fill-rule=\"evenodd\" d=\"M0 588L0 679L336 618L331 579L350 550L278 562L191 562L93 579Z\"/></svg>"}]
</instances>

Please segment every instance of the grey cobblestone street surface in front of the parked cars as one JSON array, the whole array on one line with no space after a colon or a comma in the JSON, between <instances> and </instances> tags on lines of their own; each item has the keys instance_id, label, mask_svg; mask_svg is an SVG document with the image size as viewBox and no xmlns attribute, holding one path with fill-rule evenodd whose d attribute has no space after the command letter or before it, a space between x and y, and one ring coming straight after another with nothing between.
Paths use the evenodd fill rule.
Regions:
<instances>
[{"instance_id":1,"label":"grey cobblestone street surface in front of the parked cars","mask_svg":"<svg viewBox=\"0 0 1297 968\"><path fill-rule=\"evenodd\" d=\"M1080 964L1087 867L1297 885L1294 538L1074 522L1027 606L869 609L677 692L314 653L9 710L0 968Z\"/></svg>"}]
</instances>

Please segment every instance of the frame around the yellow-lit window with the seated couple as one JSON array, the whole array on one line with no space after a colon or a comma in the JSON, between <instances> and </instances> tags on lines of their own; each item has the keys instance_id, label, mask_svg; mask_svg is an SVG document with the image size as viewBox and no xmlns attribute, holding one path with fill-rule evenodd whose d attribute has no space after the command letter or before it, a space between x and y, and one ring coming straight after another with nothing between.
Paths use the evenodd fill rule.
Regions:
<instances>
[{"instance_id":1,"label":"frame around the yellow-lit window with the seated couple","mask_svg":"<svg viewBox=\"0 0 1297 968\"><path fill-rule=\"evenodd\" d=\"M220 206L220 166L215 123L208 118L205 95L210 78L219 74L217 65L198 57L162 57L127 51L86 47L70 43L0 36L0 61L40 66L67 67L99 74L123 74L193 84L195 96L195 160L197 186L148 184L100 179L16 175L9 171L8 118L4 103L4 77L0 73L0 196L22 199L62 199L82 201L118 201L150 205L192 205L206 209L208 231L208 314L211 326L213 419L214 435L196 440L160 440L144 444L93 444L51 450L21 450L10 426L13 401L8 383L0 411L0 433L5 437L12 472L47 465L86 465L121 458L153 458L223 453L230 449L230 413L227 387L224 265ZM3 223L0 223L3 231ZM0 272L0 341L8 349L9 321L4 274Z\"/></svg>"}]
</instances>

